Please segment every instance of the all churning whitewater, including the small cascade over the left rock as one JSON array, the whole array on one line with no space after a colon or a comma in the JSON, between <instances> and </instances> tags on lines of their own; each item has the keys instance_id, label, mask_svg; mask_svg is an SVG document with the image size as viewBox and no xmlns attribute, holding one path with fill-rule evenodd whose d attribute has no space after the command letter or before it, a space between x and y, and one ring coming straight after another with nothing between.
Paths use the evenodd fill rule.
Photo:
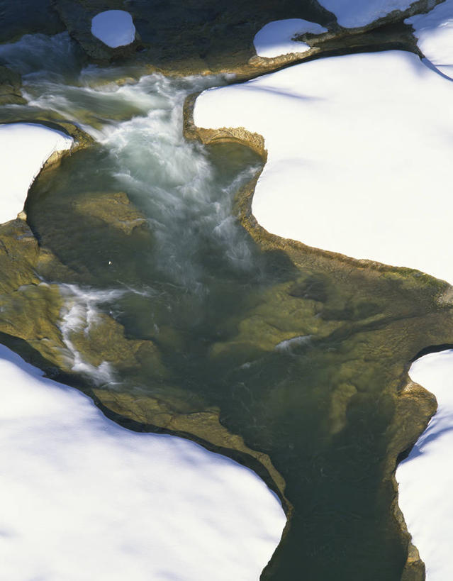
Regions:
<instances>
[{"instance_id":1,"label":"all churning whitewater, including the small cascade over the left rock","mask_svg":"<svg viewBox=\"0 0 453 581\"><path fill-rule=\"evenodd\" d=\"M60 117L72 121L94 138L101 152L99 164L84 167L77 176L78 187L128 192L147 216L153 260L143 267L152 270L152 283L132 292L160 293L162 289L155 291L153 283L174 285L200 309L216 277L210 272L212 258L222 272L257 273L250 243L232 215L233 196L257 172L256 160L239 172L222 175L203 146L187 142L182 132L186 96L225 84L228 75L140 77L138 67L129 67L118 84L112 80L118 70L113 77L109 68L84 67L67 33L26 35L17 43L1 46L0 57L21 72L22 92L28 101L25 106L7 106L6 121L8 111L32 117L52 111L56 121ZM116 267L114 260L107 263ZM67 345L65 355L72 358L74 371L90 375L96 384L113 382L112 366L84 362L69 331L86 325L81 322L84 313L93 314L96 305L115 302L128 290L121 280L118 287L99 291L62 286L65 308L60 328Z\"/></svg>"}]
</instances>

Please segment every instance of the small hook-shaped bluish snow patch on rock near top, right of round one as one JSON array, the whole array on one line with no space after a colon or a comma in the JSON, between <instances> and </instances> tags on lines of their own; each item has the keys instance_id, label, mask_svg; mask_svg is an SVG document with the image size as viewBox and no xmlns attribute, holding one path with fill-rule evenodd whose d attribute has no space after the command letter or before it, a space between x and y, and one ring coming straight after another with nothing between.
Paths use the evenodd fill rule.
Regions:
<instances>
[{"instance_id":1,"label":"small hook-shaped bluish snow patch on rock near top, right of round one","mask_svg":"<svg viewBox=\"0 0 453 581\"><path fill-rule=\"evenodd\" d=\"M288 18L269 22L257 32L253 39L259 57L273 58L289 55L291 52L306 52L310 45L292 40L293 36L304 33L320 34L327 28L303 18Z\"/></svg>"}]
</instances>

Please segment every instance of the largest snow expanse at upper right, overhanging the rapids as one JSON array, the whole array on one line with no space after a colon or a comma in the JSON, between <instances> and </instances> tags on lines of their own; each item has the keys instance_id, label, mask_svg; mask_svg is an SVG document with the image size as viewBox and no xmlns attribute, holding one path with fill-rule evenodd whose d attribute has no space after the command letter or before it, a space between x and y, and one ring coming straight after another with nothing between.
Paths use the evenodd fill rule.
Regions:
<instances>
[{"instance_id":1,"label":"largest snow expanse at upper right, overhanging the rapids","mask_svg":"<svg viewBox=\"0 0 453 581\"><path fill-rule=\"evenodd\" d=\"M264 136L252 211L268 231L453 283L452 99L417 56L375 52L205 91L194 122Z\"/></svg>"}]
</instances>

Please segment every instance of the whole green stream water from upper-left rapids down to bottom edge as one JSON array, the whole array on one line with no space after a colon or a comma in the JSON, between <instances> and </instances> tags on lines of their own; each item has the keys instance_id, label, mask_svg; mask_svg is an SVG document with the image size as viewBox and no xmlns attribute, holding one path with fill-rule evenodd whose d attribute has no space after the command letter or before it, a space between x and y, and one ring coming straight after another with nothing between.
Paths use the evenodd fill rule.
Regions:
<instances>
[{"instance_id":1,"label":"whole green stream water from upper-left rapids down to bottom edge","mask_svg":"<svg viewBox=\"0 0 453 581\"><path fill-rule=\"evenodd\" d=\"M223 426L269 454L294 507L273 579L400 580L406 549L382 483L398 382L383 345L395 348L398 321L423 314L428 299L398 277L371 280L259 248L233 215L259 158L182 137L185 96L225 79L96 85L128 71L83 69L67 37L52 42L70 59L62 65L54 53L47 71L33 72L26 46L22 60L11 52L30 104L4 118L56 111L96 139L35 182L26 210L40 243L70 269L53 282L77 285L80 301L121 291L99 295L97 311L157 346L162 377L145 360L113 368L111 389L176 389L187 409L216 406ZM77 210L106 192L128 194L145 225L127 235Z\"/></svg>"}]
</instances>

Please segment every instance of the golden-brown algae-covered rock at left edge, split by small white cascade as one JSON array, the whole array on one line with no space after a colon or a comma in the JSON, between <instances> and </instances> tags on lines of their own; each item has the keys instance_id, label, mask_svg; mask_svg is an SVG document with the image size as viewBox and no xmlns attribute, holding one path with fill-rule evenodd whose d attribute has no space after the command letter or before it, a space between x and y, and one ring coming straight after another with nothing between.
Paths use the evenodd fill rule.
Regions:
<instances>
[{"instance_id":1,"label":"golden-brown algae-covered rock at left edge, split by small white cascade","mask_svg":"<svg viewBox=\"0 0 453 581\"><path fill-rule=\"evenodd\" d=\"M22 219L0 225L0 269L0 333L26 341L49 366L72 371L69 338L82 360L91 365L108 361L118 370L147 365L155 380L167 375L157 347L151 341L126 338L123 326L107 314L100 313L91 324L63 336L68 298L60 284L43 282L42 273L68 277L72 272L49 250L40 248Z\"/></svg>"}]
</instances>

